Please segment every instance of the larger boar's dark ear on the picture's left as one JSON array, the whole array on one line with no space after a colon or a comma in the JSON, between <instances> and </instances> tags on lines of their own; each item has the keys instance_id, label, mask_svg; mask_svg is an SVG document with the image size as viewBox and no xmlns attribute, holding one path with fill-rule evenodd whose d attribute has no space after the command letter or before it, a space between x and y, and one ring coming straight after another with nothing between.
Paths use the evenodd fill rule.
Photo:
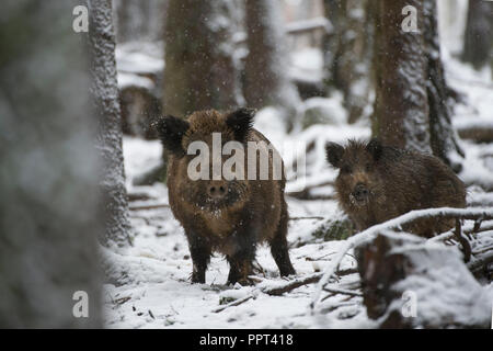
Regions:
<instances>
[{"instance_id":1,"label":"larger boar's dark ear on the picture's left","mask_svg":"<svg viewBox=\"0 0 493 351\"><path fill-rule=\"evenodd\" d=\"M156 126L162 146L176 156L183 156L185 150L182 147L182 138L188 131L188 122L179 117L165 116L159 118Z\"/></svg>"}]
</instances>

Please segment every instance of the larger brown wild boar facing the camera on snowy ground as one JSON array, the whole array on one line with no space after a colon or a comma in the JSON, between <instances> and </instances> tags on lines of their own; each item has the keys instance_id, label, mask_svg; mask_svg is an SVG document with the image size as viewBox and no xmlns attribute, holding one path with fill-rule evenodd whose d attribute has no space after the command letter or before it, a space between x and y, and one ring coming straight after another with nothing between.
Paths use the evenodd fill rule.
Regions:
<instances>
[{"instance_id":1,"label":"larger brown wild boar facing the camera on snowy ground","mask_svg":"<svg viewBox=\"0 0 493 351\"><path fill-rule=\"evenodd\" d=\"M228 141L237 141L245 147L242 167L245 169L244 174L248 174L248 141L271 145L252 127L253 117L254 113L249 109L230 113L209 110L195 112L186 120L167 116L157 123L161 141L169 151L170 206L188 240L194 283L205 283L210 256L217 251L223 253L229 262L228 284L251 284L249 275L252 274L255 249L263 241L271 245L280 275L295 274L286 240L288 212L284 200L284 172L278 180L271 177L272 152L278 156L277 151L267 151L267 180L251 180L246 176L244 179L232 180L226 180L221 176L213 180L213 167L205 170L208 179L193 180L190 177L188 166L197 156L188 155L188 146L193 141L203 141L208 149L213 149L213 134L217 136L217 133L220 134L221 146ZM257 161L259 157L260 152L255 152L254 160ZM280 156L278 157L280 160ZM226 157L221 155L222 165L225 160ZM279 163L284 167L282 160Z\"/></svg>"}]
</instances>

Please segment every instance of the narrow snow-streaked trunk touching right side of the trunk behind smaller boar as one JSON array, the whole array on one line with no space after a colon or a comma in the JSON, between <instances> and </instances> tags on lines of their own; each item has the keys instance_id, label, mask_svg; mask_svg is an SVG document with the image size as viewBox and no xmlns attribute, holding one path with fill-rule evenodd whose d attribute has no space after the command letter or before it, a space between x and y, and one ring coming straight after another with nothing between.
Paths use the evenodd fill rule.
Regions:
<instances>
[{"instance_id":1,"label":"narrow snow-streaked trunk touching right side of the trunk behind smaller boar","mask_svg":"<svg viewBox=\"0 0 493 351\"><path fill-rule=\"evenodd\" d=\"M429 136L433 155L439 157L454 171L462 169L465 154L457 143L458 136L451 125L450 88L445 80L438 42L436 2L424 1L424 39L426 48L426 93L429 106Z\"/></svg>"}]
</instances>

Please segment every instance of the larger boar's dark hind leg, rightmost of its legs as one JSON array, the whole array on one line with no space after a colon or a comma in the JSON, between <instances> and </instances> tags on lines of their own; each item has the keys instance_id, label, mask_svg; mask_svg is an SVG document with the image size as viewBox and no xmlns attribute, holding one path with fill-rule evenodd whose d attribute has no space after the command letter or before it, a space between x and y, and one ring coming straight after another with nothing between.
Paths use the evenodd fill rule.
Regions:
<instances>
[{"instance_id":1,"label":"larger boar's dark hind leg, rightmost of its legs","mask_svg":"<svg viewBox=\"0 0 493 351\"><path fill-rule=\"evenodd\" d=\"M296 274L289 260L288 244L287 244L287 222L288 213L286 203L283 204L283 212L280 214L279 227L276 230L274 238L271 240L271 253L279 268L282 276Z\"/></svg>"}]
</instances>

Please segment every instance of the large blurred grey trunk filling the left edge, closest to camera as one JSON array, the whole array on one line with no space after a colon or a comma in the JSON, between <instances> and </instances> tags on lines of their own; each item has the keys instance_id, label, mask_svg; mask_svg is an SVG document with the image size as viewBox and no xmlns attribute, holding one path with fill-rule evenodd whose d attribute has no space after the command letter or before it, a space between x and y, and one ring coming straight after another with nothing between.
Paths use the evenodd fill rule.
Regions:
<instances>
[{"instance_id":1,"label":"large blurred grey trunk filling the left edge, closest to camera","mask_svg":"<svg viewBox=\"0 0 493 351\"><path fill-rule=\"evenodd\" d=\"M80 1L0 14L0 327L102 327L94 115ZM72 314L83 291L89 318Z\"/></svg>"}]
</instances>

